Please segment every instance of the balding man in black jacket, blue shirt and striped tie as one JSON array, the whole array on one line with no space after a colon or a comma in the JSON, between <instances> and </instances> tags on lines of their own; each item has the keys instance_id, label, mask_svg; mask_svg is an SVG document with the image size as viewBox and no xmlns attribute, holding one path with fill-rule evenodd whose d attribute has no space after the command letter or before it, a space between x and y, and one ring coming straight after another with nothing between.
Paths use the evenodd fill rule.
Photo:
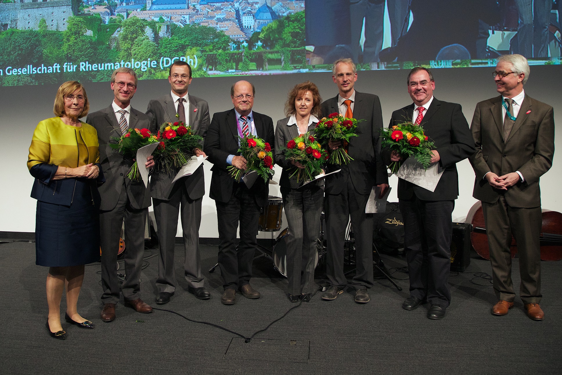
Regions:
<instances>
[{"instance_id":1,"label":"balding man in black jacket, blue shirt and striped tie","mask_svg":"<svg viewBox=\"0 0 562 375\"><path fill-rule=\"evenodd\" d=\"M239 138L255 135L274 144L273 120L252 110L256 89L247 81L238 81L230 88L234 108L213 115L205 152L212 167L210 197L215 200L219 227L219 267L224 293L221 302L233 305L236 292L249 299L260 297L250 285L253 254L256 250L260 209L268 202L269 184L260 177L250 187L236 182L226 168L230 165L246 169L246 159L238 152ZM240 226L240 242L236 234Z\"/></svg>"}]
</instances>

